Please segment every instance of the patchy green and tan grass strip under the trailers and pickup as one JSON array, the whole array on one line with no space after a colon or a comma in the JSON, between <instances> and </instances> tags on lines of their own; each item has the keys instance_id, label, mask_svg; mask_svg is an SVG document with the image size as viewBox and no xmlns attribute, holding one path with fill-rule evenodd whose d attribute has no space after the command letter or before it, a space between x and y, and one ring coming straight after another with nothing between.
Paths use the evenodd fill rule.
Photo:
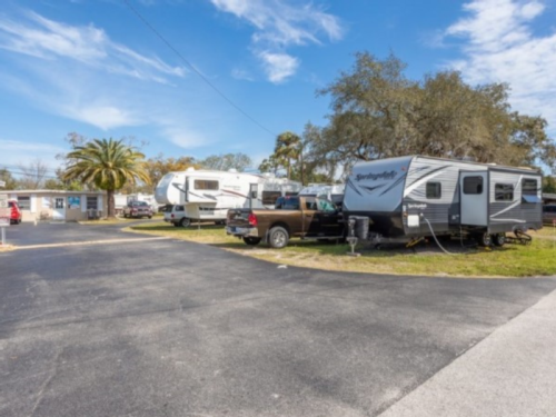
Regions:
<instances>
[{"instance_id":1,"label":"patchy green and tan grass strip under the trailers and pickup","mask_svg":"<svg viewBox=\"0 0 556 417\"><path fill-rule=\"evenodd\" d=\"M214 245L245 256L267 261L326 270L403 274L451 277L533 277L556 275L556 240L554 230L544 228L534 236L530 246L506 245L503 248L465 248L459 241L449 244L445 255L436 245L421 245L411 252L404 247L381 250L358 247L360 257L350 257L348 245L330 245L292 239L287 248L270 249L264 244L249 247L227 236L222 226L197 225L177 228L168 224L138 225L131 231ZM537 238L535 238L537 236ZM468 245L469 242L467 242Z\"/></svg>"}]
</instances>

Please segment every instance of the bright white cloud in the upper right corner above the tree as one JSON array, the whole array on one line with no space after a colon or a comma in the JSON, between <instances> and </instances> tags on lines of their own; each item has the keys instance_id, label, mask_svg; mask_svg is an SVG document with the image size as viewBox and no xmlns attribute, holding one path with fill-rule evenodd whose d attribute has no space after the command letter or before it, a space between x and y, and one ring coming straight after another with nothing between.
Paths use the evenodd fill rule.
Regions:
<instances>
[{"instance_id":1,"label":"bright white cloud in the upper right corner above the tree","mask_svg":"<svg viewBox=\"0 0 556 417\"><path fill-rule=\"evenodd\" d=\"M474 0L468 17L446 37L464 41L464 58L449 62L470 83L508 82L513 107L547 119L556 128L556 33L537 36L534 19L545 11L537 0Z\"/></svg>"}]
</instances>

